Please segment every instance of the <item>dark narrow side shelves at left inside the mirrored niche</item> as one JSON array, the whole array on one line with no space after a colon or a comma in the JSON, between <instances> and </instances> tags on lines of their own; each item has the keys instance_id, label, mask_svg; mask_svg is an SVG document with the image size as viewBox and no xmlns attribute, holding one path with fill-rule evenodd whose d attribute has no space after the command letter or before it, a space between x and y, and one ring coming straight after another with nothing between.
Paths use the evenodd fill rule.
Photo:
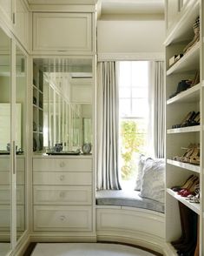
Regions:
<instances>
[{"instance_id":1,"label":"dark narrow side shelves at left inside the mirrored niche","mask_svg":"<svg viewBox=\"0 0 204 256\"><path fill-rule=\"evenodd\" d=\"M43 71L33 64L33 152L43 151Z\"/></svg>"}]
</instances>

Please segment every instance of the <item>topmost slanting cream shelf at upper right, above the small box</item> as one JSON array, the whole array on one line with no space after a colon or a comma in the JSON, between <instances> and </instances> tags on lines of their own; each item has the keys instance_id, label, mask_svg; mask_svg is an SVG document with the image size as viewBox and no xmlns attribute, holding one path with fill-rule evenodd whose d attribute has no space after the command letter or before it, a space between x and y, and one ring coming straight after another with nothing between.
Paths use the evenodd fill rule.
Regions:
<instances>
[{"instance_id":1,"label":"topmost slanting cream shelf at upper right, above the small box","mask_svg":"<svg viewBox=\"0 0 204 256\"><path fill-rule=\"evenodd\" d=\"M199 1L189 1L188 4L192 4L192 6L189 6L186 11L184 10L182 16L177 17L174 21L174 26L168 32L168 37L164 44L181 42L192 37L193 34L191 35L189 31L192 30L192 24L194 24L196 17L199 16L200 4Z\"/></svg>"}]
</instances>

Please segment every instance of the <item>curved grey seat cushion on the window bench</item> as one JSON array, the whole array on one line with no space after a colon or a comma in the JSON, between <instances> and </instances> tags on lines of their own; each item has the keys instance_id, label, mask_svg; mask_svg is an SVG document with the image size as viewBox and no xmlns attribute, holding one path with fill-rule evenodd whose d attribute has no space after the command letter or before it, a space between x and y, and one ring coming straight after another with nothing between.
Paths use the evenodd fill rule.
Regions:
<instances>
[{"instance_id":1,"label":"curved grey seat cushion on the window bench","mask_svg":"<svg viewBox=\"0 0 204 256\"><path fill-rule=\"evenodd\" d=\"M164 212L161 202L140 197L139 191L101 190L96 192L96 205L121 205Z\"/></svg>"}]
</instances>

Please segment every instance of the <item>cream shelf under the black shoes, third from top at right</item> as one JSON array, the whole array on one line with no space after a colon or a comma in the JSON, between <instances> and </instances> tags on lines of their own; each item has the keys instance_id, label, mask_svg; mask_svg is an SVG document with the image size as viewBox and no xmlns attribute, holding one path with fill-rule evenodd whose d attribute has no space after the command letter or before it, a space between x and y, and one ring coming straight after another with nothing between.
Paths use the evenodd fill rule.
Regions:
<instances>
[{"instance_id":1,"label":"cream shelf under the black shoes, third from top at right","mask_svg":"<svg viewBox=\"0 0 204 256\"><path fill-rule=\"evenodd\" d=\"M201 84L196 84L186 91L181 91L174 98L169 98L167 104L173 103L192 103L200 100Z\"/></svg>"}]
</instances>

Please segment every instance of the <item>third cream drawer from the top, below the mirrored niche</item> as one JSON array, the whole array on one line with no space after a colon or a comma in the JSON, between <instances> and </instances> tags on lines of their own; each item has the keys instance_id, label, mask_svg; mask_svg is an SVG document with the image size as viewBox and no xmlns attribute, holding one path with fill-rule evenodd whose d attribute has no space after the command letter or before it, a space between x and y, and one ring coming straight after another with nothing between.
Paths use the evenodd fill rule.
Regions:
<instances>
[{"instance_id":1,"label":"third cream drawer from the top, below the mirrored niche","mask_svg":"<svg viewBox=\"0 0 204 256\"><path fill-rule=\"evenodd\" d=\"M91 205L90 186L34 185L35 205Z\"/></svg>"}]
</instances>

